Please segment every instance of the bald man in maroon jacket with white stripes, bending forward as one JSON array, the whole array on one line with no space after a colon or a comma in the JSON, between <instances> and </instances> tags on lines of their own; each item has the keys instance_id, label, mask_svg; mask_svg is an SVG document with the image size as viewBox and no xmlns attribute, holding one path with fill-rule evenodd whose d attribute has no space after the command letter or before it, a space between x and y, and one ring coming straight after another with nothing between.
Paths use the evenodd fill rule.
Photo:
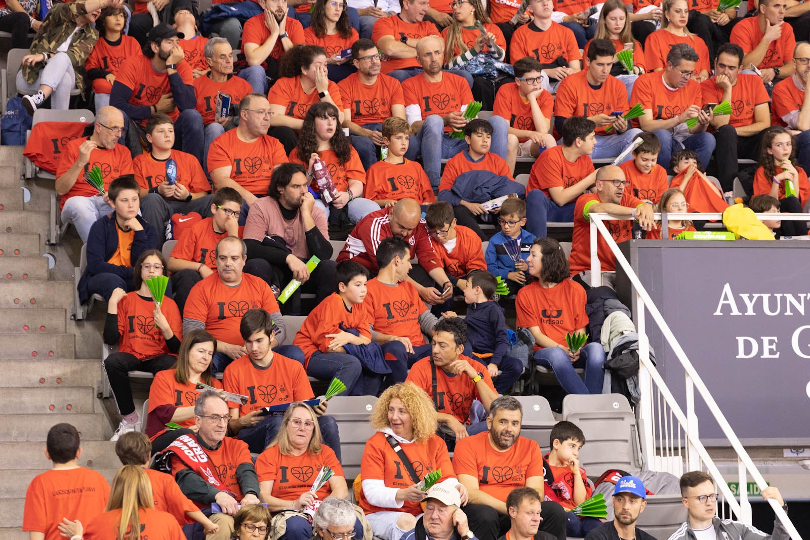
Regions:
<instances>
[{"instance_id":1,"label":"bald man in maroon jacket with white stripes, bending forward","mask_svg":"<svg viewBox=\"0 0 810 540\"><path fill-rule=\"evenodd\" d=\"M338 262L357 261L376 275L380 270L377 266L380 242L391 236L405 240L411 249L411 259L419 260L411 268L407 281L416 287L422 300L431 305L441 304L453 294L453 284L433 251L433 242L421 215L422 208L411 198L400 199L394 206L372 212L357 222L338 255Z\"/></svg>"}]
</instances>

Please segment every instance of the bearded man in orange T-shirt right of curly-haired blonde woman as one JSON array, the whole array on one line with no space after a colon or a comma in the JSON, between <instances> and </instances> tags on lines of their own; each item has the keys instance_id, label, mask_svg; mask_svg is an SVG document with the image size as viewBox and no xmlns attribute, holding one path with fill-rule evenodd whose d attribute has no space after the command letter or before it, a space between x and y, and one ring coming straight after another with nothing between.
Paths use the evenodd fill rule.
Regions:
<instances>
[{"instance_id":1,"label":"bearded man in orange T-shirt right of curly-haired blonde woman","mask_svg":"<svg viewBox=\"0 0 810 540\"><path fill-rule=\"evenodd\" d=\"M511 396L492 401L487 416L488 432L464 437L456 443L453 468L458 482L467 487L470 502L465 507L470 517L470 528L481 540L496 540L512 527L509 540L524 540L529 536L543 538L548 534L565 538L565 512L560 504L544 501L540 510L542 531L527 532L522 526L520 538L514 538L515 508L508 508L510 493L518 487L530 487L535 493L544 491L544 461L534 440L520 436L523 410L520 402ZM523 497L521 497L523 499ZM518 501L522 506L531 503ZM537 500L539 504L539 496ZM516 514L517 515L517 514ZM523 524L526 525L526 524ZM530 527L531 528L531 527Z\"/></svg>"}]
</instances>

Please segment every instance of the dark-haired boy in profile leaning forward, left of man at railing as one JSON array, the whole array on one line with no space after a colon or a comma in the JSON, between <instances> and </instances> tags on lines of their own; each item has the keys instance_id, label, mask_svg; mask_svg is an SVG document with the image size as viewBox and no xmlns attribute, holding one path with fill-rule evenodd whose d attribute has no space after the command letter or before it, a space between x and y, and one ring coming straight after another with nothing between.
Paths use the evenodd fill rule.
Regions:
<instances>
[{"instance_id":1,"label":"dark-haired boy in profile leaning forward, left of man at railing","mask_svg":"<svg viewBox=\"0 0 810 540\"><path fill-rule=\"evenodd\" d=\"M577 198L594 185L590 154L596 146L596 125L585 117L569 117L562 125L562 146L543 152L531 167L527 185L526 228L546 236L546 220L573 221Z\"/></svg>"}]
</instances>

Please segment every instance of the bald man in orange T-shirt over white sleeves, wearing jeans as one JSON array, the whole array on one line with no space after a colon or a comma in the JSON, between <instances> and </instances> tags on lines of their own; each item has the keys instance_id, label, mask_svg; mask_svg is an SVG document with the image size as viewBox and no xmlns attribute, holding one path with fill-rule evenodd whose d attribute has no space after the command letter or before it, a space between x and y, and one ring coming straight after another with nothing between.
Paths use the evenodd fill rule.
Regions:
<instances>
[{"instance_id":1,"label":"bald man in orange T-shirt over white sleeves, wearing jeans","mask_svg":"<svg viewBox=\"0 0 810 540\"><path fill-rule=\"evenodd\" d=\"M467 125L462 114L472 101L472 92L463 77L441 70L445 63L445 41L441 37L420 39L416 44L416 60L423 72L403 83L405 117L413 133L405 157L416 160L422 156L424 172L433 191L438 192L441 160L468 148L464 138L451 138L450 133ZM509 122L491 117L489 123L493 130L490 151L503 159L508 157L509 146L517 152L518 138L509 138Z\"/></svg>"}]
</instances>

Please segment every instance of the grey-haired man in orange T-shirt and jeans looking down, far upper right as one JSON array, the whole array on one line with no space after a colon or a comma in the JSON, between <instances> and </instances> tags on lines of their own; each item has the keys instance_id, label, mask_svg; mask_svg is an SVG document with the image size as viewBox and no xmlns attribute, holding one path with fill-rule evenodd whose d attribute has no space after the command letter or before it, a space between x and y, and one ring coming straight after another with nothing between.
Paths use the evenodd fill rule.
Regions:
<instances>
[{"instance_id":1,"label":"grey-haired man in orange T-shirt and jeans looking down, far upper right","mask_svg":"<svg viewBox=\"0 0 810 540\"><path fill-rule=\"evenodd\" d=\"M644 116L634 122L659 139L658 164L670 172L670 159L676 151L689 148L703 164L709 163L714 152L716 142L706 132L713 115L701 109L701 85L693 80L698 60L695 49L689 45L672 45L667 53L667 67L639 76L633 85L630 102L642 104L644 110ZM686 124L690 118L697 118L691 128Z\"/></svg>"}]
</instances>

